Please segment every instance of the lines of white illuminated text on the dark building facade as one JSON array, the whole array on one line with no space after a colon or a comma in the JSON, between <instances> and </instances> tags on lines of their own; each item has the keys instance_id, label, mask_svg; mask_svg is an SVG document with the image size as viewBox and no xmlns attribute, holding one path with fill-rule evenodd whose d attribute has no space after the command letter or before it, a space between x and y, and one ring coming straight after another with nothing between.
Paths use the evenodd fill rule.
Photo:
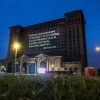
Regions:
<instances>
[{"instance_id":1,"label":"lines of white illuminated text on the dark building facade","mask_svg":"<svg viewBox=\"0 0 100 100\"><path fill-rule=\"evenodd\" d=\"M43 49L56 48L56 45L51 46L51 40L55 40L60 33L55 30L49 32L43 32L38 34L30 34L29 37L29 48L43 47Z\"/></svg>"}]
</instances>

